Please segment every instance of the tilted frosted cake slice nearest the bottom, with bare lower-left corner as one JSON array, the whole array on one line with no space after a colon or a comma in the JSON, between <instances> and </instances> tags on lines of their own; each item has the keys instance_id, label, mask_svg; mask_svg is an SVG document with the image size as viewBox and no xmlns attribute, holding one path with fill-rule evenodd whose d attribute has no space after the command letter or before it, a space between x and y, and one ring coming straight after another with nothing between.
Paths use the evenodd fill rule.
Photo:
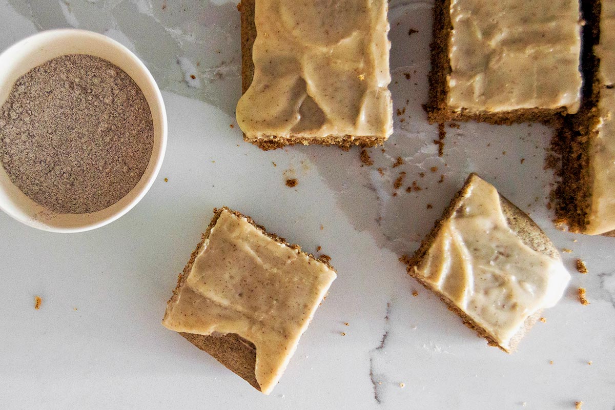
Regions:
<instances>
[{"instance_id":1,"label":"tilted frosted cake slice nearest the bottom, with bare lower-left corner","mask_svg":"<svg viewBox=\"0 0 615 410\"><path fill-rule=\"evenodd\" d=\"M228 208L192 252L162 324L269 394L335 270Z\"/></svg>"}]
</instances>

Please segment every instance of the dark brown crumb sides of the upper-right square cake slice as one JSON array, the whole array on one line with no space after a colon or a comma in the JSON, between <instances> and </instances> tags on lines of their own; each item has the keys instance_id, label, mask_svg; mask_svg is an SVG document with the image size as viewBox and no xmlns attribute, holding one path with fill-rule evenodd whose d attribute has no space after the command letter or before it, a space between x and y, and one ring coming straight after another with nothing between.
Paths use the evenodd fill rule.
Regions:
<instances>
[{"instance_id":1,"label":"dark brown crumb sides of the upper-right square cake slice","mask_svg":"<svg viewBox=\"0 0 615 410\"><path fill-rule=\"evenodd\" d=\"M450 15L451 0L436 0L429 72L429 96L425 109L430 124L447 121L477 121L488 124L510 125L519 122L552 122L566 108L522 108L505 112L456 111L448 106L448 76L451 74L449 42L453 25Z\"/></svg>"}]
</instances>

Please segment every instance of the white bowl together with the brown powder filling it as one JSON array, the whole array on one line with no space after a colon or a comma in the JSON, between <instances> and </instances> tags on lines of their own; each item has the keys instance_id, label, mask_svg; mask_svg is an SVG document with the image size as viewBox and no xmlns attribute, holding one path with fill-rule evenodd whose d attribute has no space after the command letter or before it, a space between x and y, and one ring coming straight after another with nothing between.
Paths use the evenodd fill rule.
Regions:
<instances>
[{"instance_id":1,"label":"white bowl together with the brown powder filling it","mask_svg":"<svg viewBox=\"0 0 615 410\"><path fill-rule=\"evenodd\" d=\"M149 190L166 143L156 81L109 37L44 31L0 54L0 208L18 221L111 223Z\"/></svg>"}]
</instances>

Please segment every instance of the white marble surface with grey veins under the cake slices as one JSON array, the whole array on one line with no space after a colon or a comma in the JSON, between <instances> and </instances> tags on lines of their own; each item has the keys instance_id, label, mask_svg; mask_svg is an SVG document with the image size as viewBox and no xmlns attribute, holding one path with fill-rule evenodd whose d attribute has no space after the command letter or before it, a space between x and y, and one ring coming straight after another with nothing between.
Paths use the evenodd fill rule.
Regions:
<instances>
[{"instance_id":1,"label":"white marble surface with grey veins under the cake slices","mask_svg":"<svg viewBox=\"0 0 615 410\"><path fill-rule=\"evenodd\" d=\"M552 225L548 128L462 124L447 129L438 157L437 128L421 109L431 2L390 5L391 90L405 112L395 116L386 152L370 149L376 164L362 167L359 149L263 152L242 141L234 1L0 0L0 49L50 28L105 33L145 61L169 114L159 178L119 221L61 235L0 215L1 409L557 410L575 401L615 409L615 239ZM411 28L418 33L409 37ZM399 156L405 164L393 168ZM393 196L400 171L407 175ZM418 247L470 171L573 251L562 254L573 275L568 292L512 355L487 347L397 260ZM284 185L287 176L298 178L296 188ZM423 189L407 193L413 180ZM271 396L160 324L178 272L220 205L308 251L322 246L338 270ZM576 272L576 258L589 274ZM579 286L589 306L577 301Z\"/></svg>"}]
</instances>

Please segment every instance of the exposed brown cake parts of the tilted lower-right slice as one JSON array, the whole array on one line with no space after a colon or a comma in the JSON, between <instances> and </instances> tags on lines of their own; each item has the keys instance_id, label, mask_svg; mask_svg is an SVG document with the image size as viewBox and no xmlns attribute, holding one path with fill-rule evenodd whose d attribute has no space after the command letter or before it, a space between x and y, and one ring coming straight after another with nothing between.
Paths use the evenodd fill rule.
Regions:
<instances>
[{"instance_id":1,"label":"exposed brown cake parts of the tilted lower-right slice","mask_svg":"<svg viewBox=\"0 0 615 410\"><path fill-rule=\"evenodd\" d=\"M450 219L451 216L453 216L453 214L461 204L461 200L469 189L472 176L474 175L475 174L472 173L468 176L468 178L466 179L466 183L461 188L461 190L459 190L459 192L455 194L453 200L451 200L450 205L448 205L448 208L446 208L442 217L438 219L438 221L436 221L432 231L429 232L427 237L423 240L423 242L421 242L421 246L419 246L418 250L408 261L407 270L408 274L410 274L411 277L415 278L427 289L437 294L437 296L448 305L448 309L451 310L451 312L454 312L459 317L461 317L461 320L463 321L464 325L476 331L478 336L484 337L489 345L497 346L500 349L504 350L504 352L510 353L517 348L518 342L523 338L523 336L525 336L525 334L530 330L534 323L536 323L536 321L540 318L541 311L534 313L534 315L528 317L525 320L523 328L521 328L510 341L510 349L506 349L505 347L499 345L498 342L493 338L493 336L491 336L490 333L488 333L488 331L486 331L485 328L478 325L478 323L476 323L471 317L469 317L469 315L459 309L453 301L446 298L446 296L433 288L432 285L426 282L424 278L421 277L421 275L419 275L417 272L417 267L429 252L429 249L431 248L434 240L437 239L440 229L442 229L442 225L445 223L445 221ZM522 210L517 208L512 202L507 200L502 195L500 195L500 203L502 206L502 211L506 216L508 226L510 227L510 229L512 229L513 232L515 232L515 234L522 240L522 242L525 243L525 245L529 246L534 251L546 254L551 258L559 257L557 249L555 248L553 243L551 243L547 235L542 232L538 225L536 225L536 223L534 223L534 221L532 221L529 216L527 216Z\"/></svg>"}]
</instances>

